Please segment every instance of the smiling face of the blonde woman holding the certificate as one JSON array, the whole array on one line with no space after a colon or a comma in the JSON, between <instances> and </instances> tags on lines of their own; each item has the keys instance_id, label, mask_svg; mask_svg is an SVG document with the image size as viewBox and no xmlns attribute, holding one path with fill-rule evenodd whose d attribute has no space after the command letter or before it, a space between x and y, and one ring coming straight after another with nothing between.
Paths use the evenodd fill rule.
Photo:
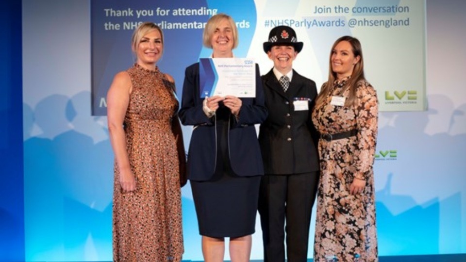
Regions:
<instances>
[{"instance_id":1,"label":"smiling face of the blonde woman holding the certificate","mask_svg":"<svg viewBox=\"0 0 466 262\"><path fill-rule=\"evenodd\" d=\"M228 19L222 19L217 24L210 40L214 57L232 57L234 36L233 28Z\"/></svg>"}]
</instances>

